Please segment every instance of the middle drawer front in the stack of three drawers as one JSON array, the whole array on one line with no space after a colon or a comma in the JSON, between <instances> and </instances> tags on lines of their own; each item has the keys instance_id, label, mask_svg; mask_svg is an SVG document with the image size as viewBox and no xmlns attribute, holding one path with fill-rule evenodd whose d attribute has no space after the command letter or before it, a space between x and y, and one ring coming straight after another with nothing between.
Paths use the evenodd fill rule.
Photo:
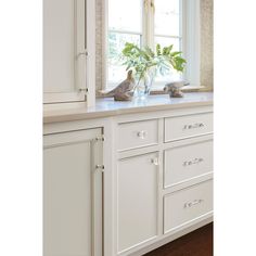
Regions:
<instances>
[{"instance_id":1,"label":"middle drawer front in the stack of three drawers","mask_svg":"<svg viewBox=\"0 0 256 256\"><path fill-rule=\"evenodd\" d=\"M165 151L165 188L213 171L213 140Z\"/></svg>"}]
</instances>

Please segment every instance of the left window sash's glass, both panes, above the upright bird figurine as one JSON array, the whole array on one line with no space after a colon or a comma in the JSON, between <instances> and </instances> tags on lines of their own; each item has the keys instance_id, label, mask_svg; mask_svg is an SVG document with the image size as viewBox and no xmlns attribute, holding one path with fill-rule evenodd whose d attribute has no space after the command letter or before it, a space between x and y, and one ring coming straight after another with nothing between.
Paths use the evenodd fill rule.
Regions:
<instances>
[{"instance_id":1,"label":"left window sash's glass, both panes, above the upright bird figurine","mask_svg":"<svg viewBox=\"0 0 256 256\"><path fill-rule=\"evenodd\" d=\"M108 0L107 78L115 86L126 77L119 54L125 43L142 43L142 1Z\"/></svg>"}]
</instances>

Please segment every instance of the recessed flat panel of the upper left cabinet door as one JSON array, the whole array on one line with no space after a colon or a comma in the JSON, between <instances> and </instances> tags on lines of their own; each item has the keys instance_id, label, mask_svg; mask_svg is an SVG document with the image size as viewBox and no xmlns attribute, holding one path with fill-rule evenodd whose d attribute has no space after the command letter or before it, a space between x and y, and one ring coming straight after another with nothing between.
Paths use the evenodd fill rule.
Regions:
<instances>
[{"instance_id":1,"label":"recessed flat panel of the upper left cabinet door","mask_svg":"<svg viewBox=\"0 0 256 256\"><path fill-rule=\"evenodd\" d=\"M44 92L72 92L75 86L74 0L43 0Z\"/></svg>"}]
</instances>

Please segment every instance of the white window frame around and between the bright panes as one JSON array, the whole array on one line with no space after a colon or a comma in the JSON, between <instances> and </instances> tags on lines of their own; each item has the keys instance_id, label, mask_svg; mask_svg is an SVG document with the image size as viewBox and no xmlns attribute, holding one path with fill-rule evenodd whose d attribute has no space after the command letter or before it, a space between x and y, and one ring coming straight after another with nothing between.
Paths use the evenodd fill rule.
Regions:
<instances>
[{"instance_id":1,"label":"white window frame around and between the bright panes","mask_svg":"<svg viewBox=\"0 0 256 256\"><path fill-rule=\"evenodd\" d=\"M154 5L154 0L141 0L143 1L142 8L142 44L148 44L154 48L154 37L164 35L154 35L154 9L149 8ZM183 79L190 82L187 89L201 89L201 23L200 23L200 1L201 0L180 0L181 1L181 31L179 38L181 38L181 51L183 57L187 60L187 67L183 73ZM148 5L148 8L146 8ZM110 89L114 85L110 85L107 81L107 51L108 51L108 0L103 0L103 90ZM125 33L125 31L121 31ZM168 37L170 37L168 35ZM177 38L177 37L176 37ZM108 85L107 85L108 82ZM162 90L163 82L153 85L152 90Z\"/></svg>"}]
</instances>

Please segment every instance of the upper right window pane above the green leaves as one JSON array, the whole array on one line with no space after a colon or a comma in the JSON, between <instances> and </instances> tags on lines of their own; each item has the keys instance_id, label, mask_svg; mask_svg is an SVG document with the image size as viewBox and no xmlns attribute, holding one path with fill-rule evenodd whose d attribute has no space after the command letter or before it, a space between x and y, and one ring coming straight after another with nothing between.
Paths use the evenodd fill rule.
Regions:
<instances>
[{"instance_id":1,"label":"upper right window pane above the green leaves","mask_svg":"<svg viewBox=\"0 0 256 256\"><path fill-rule=\"evenodd\" d=\"M155 0L155 34L180 36L180 0Z\"/></svg>"}]
</instances>

